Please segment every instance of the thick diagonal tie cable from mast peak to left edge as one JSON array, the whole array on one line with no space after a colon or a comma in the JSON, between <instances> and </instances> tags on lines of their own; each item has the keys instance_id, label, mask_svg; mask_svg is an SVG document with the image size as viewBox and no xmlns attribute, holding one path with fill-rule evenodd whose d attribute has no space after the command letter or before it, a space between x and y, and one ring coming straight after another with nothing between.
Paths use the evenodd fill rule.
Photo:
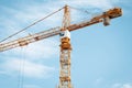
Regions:
<instances>
[{"instance_id":1,"label":"thick diagonal tie cable from mast peak to left edge","mask_svg":"<svg viewBox=\"0 0 132 88\"><path fill-rule=\"evenodd\" d=\"M62 9L64 9L64 7L63 7ZM16 35L16 34L19 34L19 33L21 33L21 32L23 32L23 31L25 31L25 30L28 30L28 29L30 29L31 26L35 25L36 23L38 23L38 22L41 22L41 21L43 21L43 20L47 19L48 16L51 16L51 15L53 15L53 14L57 13L57 12L58 12L58 11L61 11L62 9L58 9L57 11L55 11L55 12L53 12L53 13L51 13L51 14L48 14L48 15L46 15L46 16L44 16L44 18L42 18L42 19L40 19L40 20L37 20L36 22L33 22L33 23L32 23L32 24L30 24L29 26L26 26L26 28L24 28L24 29L20 30L19 32L16 32L16 33L14 33L14 34L12 34L12 35L10 35L10 36L8 36L8 37L6 37L6 38L3 38L2 41L0 41L0 43L2 43L2 42L4 42L4 41L7 41L8 38L10 38L10 37L12 37L12 36Z\"/></svg>"}]
</instances>

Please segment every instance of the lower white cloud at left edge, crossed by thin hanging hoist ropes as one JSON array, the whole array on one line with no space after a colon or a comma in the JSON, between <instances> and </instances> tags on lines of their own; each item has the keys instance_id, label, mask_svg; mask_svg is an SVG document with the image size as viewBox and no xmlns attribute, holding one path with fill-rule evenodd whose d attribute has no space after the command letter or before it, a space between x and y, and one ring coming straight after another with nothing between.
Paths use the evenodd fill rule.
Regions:
<instances>
[{"instance_id":1,"label":"lower white cloud at left edge, crossed by thin hanging hoist ropes","mask_svg":"<svg viewBox=\"0 0 132 88\"><path fill-rule=\"evenodd\" d=\"M16 58L11 58L11 61L4 62L1 64L0 68L4 69L6 73L12 76L19 72L23 72L22 75L33 78L46 78L55 70L54 67L47 67L42 64Z\"/></svg>"}]
</instances>

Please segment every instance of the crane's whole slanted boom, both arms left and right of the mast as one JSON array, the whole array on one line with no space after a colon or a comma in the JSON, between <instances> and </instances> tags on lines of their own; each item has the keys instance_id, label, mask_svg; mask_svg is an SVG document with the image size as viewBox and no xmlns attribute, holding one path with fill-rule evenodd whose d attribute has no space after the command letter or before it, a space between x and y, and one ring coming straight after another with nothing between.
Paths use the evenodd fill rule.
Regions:
<instances>
[{"instance_id":1,"label":"crane's whole slanted boom, both arms left and right of the mast","mask_svg":"<svg viewBox=\"0 0 132 88\"><path fill-rule=\"evenodd\" d=\"M105 25L109 25L110 19L114 19L114 18L118 18L121 15L122 15L121 9L114 8L109 11L106 11L102 14L97 15L90 20L82 21L82 22L79 22L76 24L72 24L72 25L67 26L67 29L69 31L75 31L75 30L78 30L78 29L81 29L81 28L85 28L88 25L100 23L100 22L103 22ZM0 52L8 51L8 50L19 47L19 46L24 46L24 45L28 45L30 43L33 43L33 42L36 42L36 41L40 41L40 40L43 40L46 37L58 35L61 33L61 29L62 29L61 26L57 26L57 28L53 28L53 29L50 29L50 30L46 30L46 31L43 31L40 33L35 33L33 35L28 35L28 36L19 38L19 40L14 40L14 41L11 41L8 43L2 43L2 44L0 44Z\"/></svg>"}]
</instances>

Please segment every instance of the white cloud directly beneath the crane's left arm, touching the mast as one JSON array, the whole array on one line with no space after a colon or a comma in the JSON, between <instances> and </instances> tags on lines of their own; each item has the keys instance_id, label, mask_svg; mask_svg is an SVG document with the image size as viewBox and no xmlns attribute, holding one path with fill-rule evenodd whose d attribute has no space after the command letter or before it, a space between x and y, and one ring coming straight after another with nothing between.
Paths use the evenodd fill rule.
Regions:
<instances>
[{"instance_id":1,"label":"white cloud directly beneath the crane's left arm, touching the mast","mask_svg":"<svg viewBox=\"0 0 132 88\"><path fill-rule=\"evenodd\" d=\"M2 53L4 58L9 57L24 57L30 61L42 61L45 58L54 58L54 56L58 56L58 42L54 38L44 40L36 43L32 43L28 46L13 48L10 51L6 51Z\"/></svg>"}]
</instances>

